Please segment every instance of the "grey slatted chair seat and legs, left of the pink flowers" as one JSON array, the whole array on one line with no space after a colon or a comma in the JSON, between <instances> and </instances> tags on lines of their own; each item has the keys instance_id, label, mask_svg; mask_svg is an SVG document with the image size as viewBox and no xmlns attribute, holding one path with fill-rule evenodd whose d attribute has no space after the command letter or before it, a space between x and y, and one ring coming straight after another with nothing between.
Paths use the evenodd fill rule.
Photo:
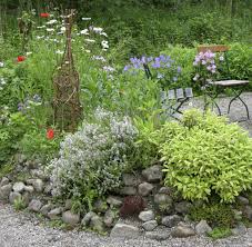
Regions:
<instances>
[{"instance_id":1,"label":"grey slatted chair seat and legs, left of the pink flowers","mask_svg":"<svg viewBox=\"0 0 252 247\"><path fill-rule=\"evenodd\" d=\"M193 98L192 88L178 88L161 91L162 109L170 117L179 119L177 113L183 113L180 109L191 98Z\"/></svg>"}]
</instances>

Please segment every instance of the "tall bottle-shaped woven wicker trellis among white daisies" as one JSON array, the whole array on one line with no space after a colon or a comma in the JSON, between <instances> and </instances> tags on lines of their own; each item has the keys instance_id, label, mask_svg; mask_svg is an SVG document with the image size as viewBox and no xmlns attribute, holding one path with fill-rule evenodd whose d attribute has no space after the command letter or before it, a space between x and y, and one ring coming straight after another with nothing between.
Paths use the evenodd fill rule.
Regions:
<instances>
[{"instance_id":1,"label":"tall bottle-shaped woven wicker trellis among white daisies","mask_svg":"<svg viewBox=\"0 0 252 247\"><path fill-rule=\"evenodd\" d=\"M81 118L82 107L80 103L80 80L75 70L71 32L74 10L68 11L65 16L65 49L60 69L53 78L54 98L54 122L65 131L74 131Z\"/></svg>"}]
</instances>

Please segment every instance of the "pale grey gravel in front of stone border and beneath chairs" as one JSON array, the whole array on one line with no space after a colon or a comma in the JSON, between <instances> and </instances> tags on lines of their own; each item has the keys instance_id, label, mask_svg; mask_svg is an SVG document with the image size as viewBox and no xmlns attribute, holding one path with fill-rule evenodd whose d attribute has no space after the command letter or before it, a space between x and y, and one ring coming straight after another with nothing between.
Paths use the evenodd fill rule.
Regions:
<instances>
[{"instance_id":1,"label":"pale grey gravel in front of stone border and beneath chairs","mask_svg":"<svg viewBox=\"0 0 252 247\"><path fill-rule=\"evenodd\" d=\"M243 93L242 98L250 108L252 117L252 92ZM229 98L220 99L223 113L226 113ZM193 107L202 108L202 101L194 99ZM187 106L191 108L192 106ZM245 117L242 106L234 102L230 113L231 121ZM252 136L252 121L240 122ZM155 241L144 237L138 239L111 239L84 231L63 231L41 224L32 215L17 214L10 206L0 202L0 247L252 247L252 228L246 234L211 241L206 237L190 237L187 239L169 238Z\"/></svg>"}]
</instances>

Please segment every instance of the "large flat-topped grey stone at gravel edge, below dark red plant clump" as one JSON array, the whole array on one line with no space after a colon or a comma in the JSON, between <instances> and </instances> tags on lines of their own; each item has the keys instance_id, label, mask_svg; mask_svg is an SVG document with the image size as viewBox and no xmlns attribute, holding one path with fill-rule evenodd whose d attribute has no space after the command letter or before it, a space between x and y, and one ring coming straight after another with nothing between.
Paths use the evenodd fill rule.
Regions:
<instances>
[{"instance_id":1,"label":"large flat-topped grey stone at gravel edge, below dark red plant clump","mask_svg":"<svg viewBox=\"0 0 252 247\"><path fill-rule=\"evenodd\" d=\"M118 223L110 233L111 238L138 238L140 229L135 226Z\"/></svg>"}]
</instances>

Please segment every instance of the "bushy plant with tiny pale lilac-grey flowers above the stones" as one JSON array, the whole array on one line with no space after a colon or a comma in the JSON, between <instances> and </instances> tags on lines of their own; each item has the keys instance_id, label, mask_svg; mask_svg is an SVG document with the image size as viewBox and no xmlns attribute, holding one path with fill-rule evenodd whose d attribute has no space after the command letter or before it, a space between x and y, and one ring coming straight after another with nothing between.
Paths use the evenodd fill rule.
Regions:
<instances>
[{"instance_id":1,"label":"bushy plant with tiny pale lilac-grey flowers above the stones","mask_svg":"<svg viewBox=\"0 0 252 247\"><path fill-rule=\"evenodd\" d=\"M117 190L137 136L129 117L98 108L94 121L84 121L79 131L68 135L59 158L49 165L53 195L83 198Z\"/></svg>"}]
</instances>

